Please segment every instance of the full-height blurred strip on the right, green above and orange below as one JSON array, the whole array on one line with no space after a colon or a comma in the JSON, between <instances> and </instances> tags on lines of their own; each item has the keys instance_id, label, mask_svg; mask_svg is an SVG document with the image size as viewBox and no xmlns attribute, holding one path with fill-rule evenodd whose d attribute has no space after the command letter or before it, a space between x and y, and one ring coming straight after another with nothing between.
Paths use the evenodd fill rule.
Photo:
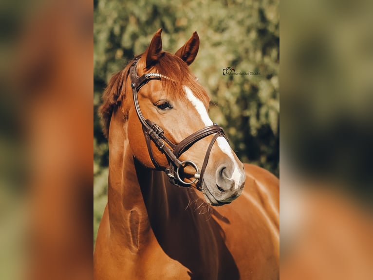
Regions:
<instances>
[{"instance_id":1,"label":"full-height blurred strip on the right, green above and orange below","mask_svg":"<svg viewBox=\"0 0 373 280\"><path fill-rule=\"evenodd\" d=\"M372 9L281 4L281 279L372 278Z\"/></svg>"}]
</instances>

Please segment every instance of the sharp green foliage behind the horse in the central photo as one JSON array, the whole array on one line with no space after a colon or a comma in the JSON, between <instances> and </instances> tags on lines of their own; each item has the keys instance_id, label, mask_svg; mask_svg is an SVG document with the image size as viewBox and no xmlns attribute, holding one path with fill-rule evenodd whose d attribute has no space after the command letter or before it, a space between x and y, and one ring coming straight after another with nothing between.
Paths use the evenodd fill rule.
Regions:
<instances>
[{"instance_id":1,"label":"sharp green foliage behind the horse in the central photo","mask_svg":"<svg viewBox=\"0 0 373 280\"><path fill-rule=\"evenodd\" d=\"M211 97L211 119L242 161L279 176L279 20L278 0L94 0L94 241L107 201L108 144L96 114L101 94L159 28L172 53L198 32L190 67ZM261 75L223 76L226 67Z\"/></svg>"}]
</instances>

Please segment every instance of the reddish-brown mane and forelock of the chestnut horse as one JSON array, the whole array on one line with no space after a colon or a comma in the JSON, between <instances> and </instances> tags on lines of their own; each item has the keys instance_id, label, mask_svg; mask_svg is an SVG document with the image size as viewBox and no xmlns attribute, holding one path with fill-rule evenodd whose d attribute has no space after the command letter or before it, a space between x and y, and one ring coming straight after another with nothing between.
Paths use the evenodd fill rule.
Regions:
<instances>
[{"instance_id":1,"label":"reddish-brown mane and forelock of the chestnut horse","mask_svg":"<svg viewBox=\"0 0 373 280\"><path fill-rule=\"evenodd\" d=\"M103 120L103 132L106 138L108 138L109 135L112 113L125 98L127 91L126 81L130 73L132 61L138 57L141 57L141 55L130 60L123 70L112 76L102 95L102 105L100 106L98 113ZM157 64L154 65L154 70L151 72L160 73L172 80L162 80L163 89L165 91L178 94L180 98L184 99L186 97L182 85L187 85L197 98L200 98L206 105L208 105L209 98L205 93L205 90L191 75L187 64L178 57L167 52L162 53L162 57L158 60Z\"/></svg>"}]
</instances>

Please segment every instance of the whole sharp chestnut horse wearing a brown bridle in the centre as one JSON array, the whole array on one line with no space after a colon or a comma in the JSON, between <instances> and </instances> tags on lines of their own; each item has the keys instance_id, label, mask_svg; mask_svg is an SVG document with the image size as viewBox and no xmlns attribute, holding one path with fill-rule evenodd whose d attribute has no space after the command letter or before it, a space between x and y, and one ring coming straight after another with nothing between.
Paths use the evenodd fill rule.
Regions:
<instances>
[{"instance_id":1,"label":"whole sharp chestnut horse wearing a brown bridle in the centre","mask_svg":"<svg viewBox=\"0 0 373 280\"><path fill-rule=\"evenodd\" d=\"M197 33L172 55L161 32L103 94L109 189L94 279L279 279L279 180L242 164L209 119L188 69Z\"/></svg>"}]
</instances>

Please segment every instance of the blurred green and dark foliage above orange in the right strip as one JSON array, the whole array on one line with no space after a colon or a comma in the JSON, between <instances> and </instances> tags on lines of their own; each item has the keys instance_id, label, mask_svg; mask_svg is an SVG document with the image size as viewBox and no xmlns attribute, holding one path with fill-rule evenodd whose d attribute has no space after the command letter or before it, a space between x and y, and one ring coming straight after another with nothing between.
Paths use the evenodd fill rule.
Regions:
<instances>
[{"instance_id":1,"label":"blurred green and dark foliage above orange in the right strip","mask_svg":"<svg viewBox=\"0 0 373 280\"><path fill-rule=\"evenodd\" d=\"M284 9L281 22L281 157L297 172L371 200L372 4L305 0L287 6L296 12Z\"/></svg>"}]
</instances>

